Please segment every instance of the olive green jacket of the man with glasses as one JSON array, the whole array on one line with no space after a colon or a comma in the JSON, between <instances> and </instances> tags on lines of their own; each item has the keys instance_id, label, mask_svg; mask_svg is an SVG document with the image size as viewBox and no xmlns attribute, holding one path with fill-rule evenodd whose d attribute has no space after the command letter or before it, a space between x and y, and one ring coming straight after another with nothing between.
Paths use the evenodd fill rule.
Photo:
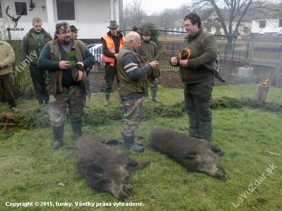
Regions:
<instances>
[{"instance_id":1,"label":"olive green jacket of the man with glasses","mask_svg":"<svg viewBox=\"0 0 282 211\"><path fill-rule=\"evenodd\" d=\"M200 60L203 60L210 66L214 65L214 61L217 58L217 43L214 36L210 33L204 35L204 52L202 51L201 37L205 33L203 29L200 29L192 37L185 37L182 42L178 53L186 48L188 45L194 45L199 52L199 56L194 59L187 60L187 68L180 65L179 72L180 78L184 83L198 83L206 80L210 80L214 77L214 73L205 68ZM176 66L179 66L177 64Z\"/></svg>"}]
</instances>

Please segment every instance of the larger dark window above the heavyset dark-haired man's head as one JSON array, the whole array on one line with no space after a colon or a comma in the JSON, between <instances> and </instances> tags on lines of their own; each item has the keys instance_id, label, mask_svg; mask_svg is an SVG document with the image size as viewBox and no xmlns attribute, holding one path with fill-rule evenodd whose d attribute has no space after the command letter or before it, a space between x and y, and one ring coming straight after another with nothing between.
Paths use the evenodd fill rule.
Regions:
<instances>
[{"instance_id":1,"label":"larger dark window above the heavyset dark-haired man's head","mask_svg":"<svg viewBox=\"0 0 282 211\"><path fill-rule=\"evenodd\" d=\"M75 20L74 0L56 0L58 20Z\"/></svg>"}]
</instances>

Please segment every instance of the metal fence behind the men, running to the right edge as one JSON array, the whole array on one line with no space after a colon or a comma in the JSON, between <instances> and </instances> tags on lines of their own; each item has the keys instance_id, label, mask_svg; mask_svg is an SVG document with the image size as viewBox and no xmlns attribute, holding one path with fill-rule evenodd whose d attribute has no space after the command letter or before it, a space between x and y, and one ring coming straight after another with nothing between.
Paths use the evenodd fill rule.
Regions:
<instances>
[{"instance_id":1,"label":"metal fence behind the men, running to the right edge","mask_svg":"<svg viewBox=\"0 0 282 211\"><path fill-rule=\"evenodd\" d=\"M163 50L164 57L159 61L160 70L178 70L178 67L170 65L171 57L178 53L181 41L159 41L158 49ZM217 48L220 53L220 67L229 68L241 67L241 60L249 58L252 60L252 65L263 65L271 67L282 67L282 45L251 45L251 44L218 44ZM234 49L233 59L232 52ZM102 48L94 50L93 55L97 60L92 68L92 71L104 70Z\"/></svg>"}]
</instances>

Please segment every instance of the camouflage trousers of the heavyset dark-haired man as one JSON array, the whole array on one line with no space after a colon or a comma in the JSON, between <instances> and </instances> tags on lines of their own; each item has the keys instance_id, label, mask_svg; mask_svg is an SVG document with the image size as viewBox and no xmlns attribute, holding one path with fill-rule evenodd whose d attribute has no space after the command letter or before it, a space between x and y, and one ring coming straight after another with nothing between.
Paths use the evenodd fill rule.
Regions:
<instances>
[{"instance_id":1,"label":"camouflage trousers of the heavyset dark-haired man","mask_svg":"<svg viewBox=\"0 0 282 211\"><path fill-rule=\"evenodd\" d=\"M72 88L63 87L63 92L50 95L49 114L51 116L51 125L61 126L64 124L67 118L67 104L69 105L70 120L83 120L84 94L79 85L73 86Z\"/></svg>"}]
</instances>

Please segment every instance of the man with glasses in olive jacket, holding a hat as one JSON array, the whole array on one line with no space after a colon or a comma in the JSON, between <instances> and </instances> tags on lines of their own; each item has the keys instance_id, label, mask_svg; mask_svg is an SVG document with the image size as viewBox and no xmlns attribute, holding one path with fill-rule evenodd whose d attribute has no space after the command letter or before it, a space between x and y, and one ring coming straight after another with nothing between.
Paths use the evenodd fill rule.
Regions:
<instances>
[{"instance_id":1,"label":"man with glasses in olive jacket, holding a hat","mask_svg":"<svg viewBox=\"0 0 282 211\"><path fill-rule=\"evenodd\" d=\"M185 108L189 115L189 136L211 141L212 112L210 104L214 73L202 66L200 60L213 66L217 57L217 43L212 34L205 33L203 52L201 38L204 31L201 28L200 17L196 13L185 16L184 26L188 35L180 46L179 52L188 45L193 45L198 50L199 56L179 61L177 57L173 57L170 62L172 66L180 66L180 77L184 82Z\"/></svg>"}]
</instances>

